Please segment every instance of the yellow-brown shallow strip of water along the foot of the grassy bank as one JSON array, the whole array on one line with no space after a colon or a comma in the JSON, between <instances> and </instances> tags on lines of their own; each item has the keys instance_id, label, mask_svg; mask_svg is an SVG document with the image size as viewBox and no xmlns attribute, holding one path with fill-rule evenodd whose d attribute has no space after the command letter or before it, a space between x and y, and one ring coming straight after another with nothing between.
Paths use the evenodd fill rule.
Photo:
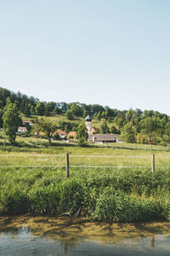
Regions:
<instances>
[{"instance_id":1,"label":"yellow-brown shallow strip of water along the foot of the grassy bank","mask_svg":"<svg viewBox=\"0 0 170 256\"><path fill-rule=\"evenodd\" d=\"M170 222L144 222L139 224L110 224L108 222L91 222L88 218L49 217L49 216L1 216L0 233L27 227L34 236L53 236L59 240L90 240L109 243L119 242L133 237L167 236L170 234Z\"/></svg>"}]
</instances>

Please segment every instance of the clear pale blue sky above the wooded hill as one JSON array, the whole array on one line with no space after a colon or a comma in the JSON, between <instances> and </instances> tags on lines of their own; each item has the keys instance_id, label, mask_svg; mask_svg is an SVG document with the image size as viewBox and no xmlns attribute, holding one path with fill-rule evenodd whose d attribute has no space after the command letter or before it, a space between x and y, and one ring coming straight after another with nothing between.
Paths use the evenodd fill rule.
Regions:
<instances>
[{"instance_id":1,"label":"clear pale blue sky above the wooded hill","mask_svg":"<svg viewBox=\"0 0 170 256\"><path fill-rule=\"evenodd\" d=\"M170 1L0 0L0 86L170 114Z\"/></svg>"}]
</instances>

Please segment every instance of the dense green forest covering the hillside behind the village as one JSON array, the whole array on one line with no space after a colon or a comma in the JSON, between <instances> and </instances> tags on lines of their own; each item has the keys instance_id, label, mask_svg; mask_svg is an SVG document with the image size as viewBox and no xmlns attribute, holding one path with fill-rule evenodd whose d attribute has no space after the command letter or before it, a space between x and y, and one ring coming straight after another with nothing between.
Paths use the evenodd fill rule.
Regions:
<instances>
[{"instance_id":1,"label":"dense green forest covering the hillside behind the village","mask_svg":"<svg viewBox=\"0 0 170 256\"><path fill-rule=\"evenodd\" d=\"M117 110L99 104L80 102L41 102L37 98L0 88L0 127L3 127L3 108L8 101L16 104L20 113L26 116L65 115L68 120L86 117L87 114L101 123L100 132L121 134L128 143L170 143L170 117L154 110ZM60 128L71 131L77 129L76 122L63 122Z\"/></svg>"}]
</instances>

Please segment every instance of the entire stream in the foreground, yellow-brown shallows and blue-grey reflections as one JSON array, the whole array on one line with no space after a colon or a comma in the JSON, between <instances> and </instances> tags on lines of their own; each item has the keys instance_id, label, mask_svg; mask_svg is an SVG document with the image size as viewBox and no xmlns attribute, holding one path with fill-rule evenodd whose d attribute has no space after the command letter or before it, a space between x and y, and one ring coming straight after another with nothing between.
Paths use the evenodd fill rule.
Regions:
<instances>
[{"instance_id":1,"label":"entire stream in the foreground, yellow-brown shallows and blue-grey reflections","mask_svg":"<svg viewBox=\"0 0 170 256\"><path fill-rule=\"evenodd\" d=\"M0 218L0 255L169 255L170 224L90 223L83 218Z\"/></svg>"}]
</instances>

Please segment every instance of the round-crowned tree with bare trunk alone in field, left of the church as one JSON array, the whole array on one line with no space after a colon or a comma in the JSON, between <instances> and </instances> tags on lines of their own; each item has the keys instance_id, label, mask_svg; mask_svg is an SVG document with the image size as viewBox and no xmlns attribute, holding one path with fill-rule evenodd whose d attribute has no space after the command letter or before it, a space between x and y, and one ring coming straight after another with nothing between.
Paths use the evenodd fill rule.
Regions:
<instances>
[{"instance_id":1,"label":"round-crowned tree with bare trunk alone in field, left of the church","mask_svg":"<svg viewBox=\"0 0 170 256\"><path fill-rule=\"evenodd\" d=\"M42 131L48 138L49 146L51 146L51 139L53 137L54 131L56 131L56 125L48 119L38 119L37 123L34 125L33 133Z\"/></svg>"}]
</instances>

